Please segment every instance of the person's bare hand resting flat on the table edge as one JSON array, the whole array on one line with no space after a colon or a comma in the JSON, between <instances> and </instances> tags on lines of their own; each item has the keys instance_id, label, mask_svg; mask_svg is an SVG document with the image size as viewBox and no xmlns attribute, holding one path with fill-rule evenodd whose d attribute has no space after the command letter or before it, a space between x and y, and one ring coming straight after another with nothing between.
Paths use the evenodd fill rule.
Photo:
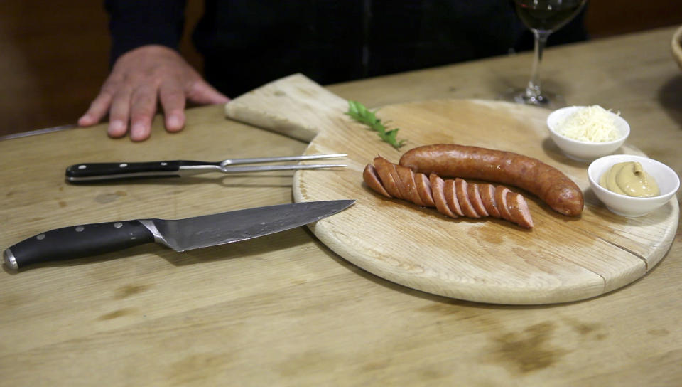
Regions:
<instances>
[{"instance_id":1,"label":"person's bare hand resting flat on the table edge","mask_svg":"<svg viewBox=\"0 0 682 387\"><path fill-rule=\"evenodd\" d=\"M229 98L212 88L171 48L142 46L118 58L78 124L97 124L109 112L109 136L123 137L130 129L133 141L143 141L151 132L157 102L163 108L166 130L178 132L185 126L187 100L209 105Z\"/></svg>"}]
</instances>

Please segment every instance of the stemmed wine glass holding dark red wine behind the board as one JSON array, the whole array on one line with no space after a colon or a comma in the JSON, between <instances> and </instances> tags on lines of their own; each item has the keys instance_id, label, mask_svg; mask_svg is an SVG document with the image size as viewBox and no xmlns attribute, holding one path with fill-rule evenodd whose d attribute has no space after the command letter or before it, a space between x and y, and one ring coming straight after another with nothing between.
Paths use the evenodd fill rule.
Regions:
<instances>
[{"instance_id":1,"label":"stemmed wine glass holding dark red wine behind the board","mask_svg":"<svg viewBox=\"0 0 682 387\"><path fill-rule=\"evenodd\" d=\"M531 68L531 79L526 90L514 91L514 101L528 105L558 107L558 96L549 97L540 86L540 63L542 54L551 33L573 20L585 6L586 0L514 0L516 14L531 30L535 38L535 57Z\"/></svg>"}]
</instances>

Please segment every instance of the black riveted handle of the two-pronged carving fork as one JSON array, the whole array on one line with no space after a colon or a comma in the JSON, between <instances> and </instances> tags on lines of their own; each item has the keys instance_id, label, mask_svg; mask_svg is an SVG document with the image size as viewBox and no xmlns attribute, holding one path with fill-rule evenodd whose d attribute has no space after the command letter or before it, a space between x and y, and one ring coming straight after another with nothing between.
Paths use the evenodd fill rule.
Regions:
<instances>
[{"instance_id":1,"label":"black riveted handle of the two-pronged carving fork","mask_svg":"<svg viewBox=\"0 0 682 387\"><path fill-rule=\"evenodd\" d=\"M180 177L183 161L146 161L136 163L83 163L66 169L71 182L134 179L138 177Z\"/></svg>"}]
</instances>

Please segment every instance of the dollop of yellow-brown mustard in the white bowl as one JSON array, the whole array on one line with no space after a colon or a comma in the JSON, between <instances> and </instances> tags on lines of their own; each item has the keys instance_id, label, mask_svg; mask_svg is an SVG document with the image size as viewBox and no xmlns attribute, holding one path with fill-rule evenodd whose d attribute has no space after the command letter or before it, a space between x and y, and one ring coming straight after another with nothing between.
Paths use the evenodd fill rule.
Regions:
<instances>
[{"instance_id":1,"label":"dollop of yellow-brown mustard in the white bowl","mask_svg":"<svg viewBox=\"0 0 682 387\"><path fill-rule=\"evenodd\" d=\"M649 198L659 195L656 179L642 169L637 161L615 164L599 179L599 185L616 194Z\"/></svg>"}]
</instances>

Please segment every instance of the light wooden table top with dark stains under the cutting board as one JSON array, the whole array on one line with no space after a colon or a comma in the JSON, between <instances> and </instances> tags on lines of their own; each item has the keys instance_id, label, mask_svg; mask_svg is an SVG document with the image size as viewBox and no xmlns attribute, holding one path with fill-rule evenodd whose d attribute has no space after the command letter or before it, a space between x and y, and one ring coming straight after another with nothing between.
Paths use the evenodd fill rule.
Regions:
<instances>
[{"instance_id":1,"label":"light wooden table top with dark stains under the cutting board","mask_svg":"<svg viewBox=\"0 0 682 387\"><path fill-rule=\"evenodd\" d=\"M682 170L682 72L673 28L546 52L543 80L571 105L620 110L629 144ZM377 107L494 99L526 82L529 53L328 89ZM301 154L306 144L188 112L134 144L104 126L0 142L2 248L50 228L181 218L286 203L288 173L72 186L81 161ZM678 193L678 201L681 194ZM645 277L583 302L505 307L394 285L306 228L175 253L125 253L0 272L3 386L678 386L682 234Z\"/></svg>"}]
</instances>

